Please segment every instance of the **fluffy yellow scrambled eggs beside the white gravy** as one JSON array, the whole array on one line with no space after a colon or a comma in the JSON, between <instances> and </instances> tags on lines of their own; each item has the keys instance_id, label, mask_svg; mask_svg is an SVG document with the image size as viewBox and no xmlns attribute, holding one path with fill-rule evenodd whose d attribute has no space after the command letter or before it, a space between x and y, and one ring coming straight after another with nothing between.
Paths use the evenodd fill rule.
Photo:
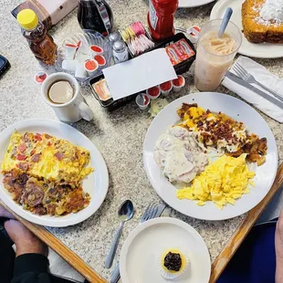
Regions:
<instances>
[{"instance_id":1,"label":"fluffy yellow scrambled eggs beside the white gravy","mask_svg":"<svg viewBox=\"0 0 283 283\"><path fill-rule=\"evenodd\" d=\"M179 199L197 200L198 205L213 201L220 209L235 204L242 194L249 193L248 185L255 185L256 173L248 170L246 154L235 158L223 155L210 163L203 173L195 177L190 187L177 190Z\"/></svg>"}]
</instances>

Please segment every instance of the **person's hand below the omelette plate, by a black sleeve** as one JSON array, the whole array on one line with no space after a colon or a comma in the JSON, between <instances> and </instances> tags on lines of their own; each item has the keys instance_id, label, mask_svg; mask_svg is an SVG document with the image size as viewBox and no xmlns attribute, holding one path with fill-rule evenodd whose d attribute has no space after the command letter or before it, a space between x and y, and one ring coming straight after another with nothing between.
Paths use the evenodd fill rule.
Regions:
<instances>
[{"instance_id":1,"label":"person's hand below the omelette plate, by a black sleeve","mask_svg":"<svg viewBox=\"0 0 283 283\"><path fill-rule=\"evenodd\" d=\"M32 234L19 221L5 221L5 230L16 245L16 257L24 254L41 254L47 257L47 245Z\"/></svg>"}]
</instances>

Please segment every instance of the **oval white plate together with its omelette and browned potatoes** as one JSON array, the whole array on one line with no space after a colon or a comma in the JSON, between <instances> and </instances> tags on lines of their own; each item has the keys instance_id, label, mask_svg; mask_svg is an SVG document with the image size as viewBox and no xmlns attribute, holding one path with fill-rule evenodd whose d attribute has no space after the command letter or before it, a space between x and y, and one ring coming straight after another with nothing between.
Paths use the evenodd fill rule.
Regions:
<instances>
[{"instance_id":1,"label":"oval white plate together with its omelette and browned potatoes","mask_svg":"<svg viewBox=\"0 0 283 283\"><path fill-rule=\"evenodd\" d=\"M30 119L6 128L0 163L1 200L38 225L76 225L100 208L108 192L109 174L99 150L59 121Z\"/></svg>"}]
</instances>

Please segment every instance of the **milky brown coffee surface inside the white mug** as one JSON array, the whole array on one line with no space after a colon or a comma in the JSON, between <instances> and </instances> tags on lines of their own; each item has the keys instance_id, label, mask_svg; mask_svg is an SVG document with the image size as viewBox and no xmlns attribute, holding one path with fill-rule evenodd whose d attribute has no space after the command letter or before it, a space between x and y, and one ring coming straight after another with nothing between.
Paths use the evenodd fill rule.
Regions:
<instances>
[{"instance_id":1,"label":"milky brown coffee surface inside the white mug","mask_svg":"<svg viewBox=\"0 0 283 283\"><path fill-rule=\"evenodd\" d=\"M52 103L65 104L72 100L75 89L67 79L54 81L47 90L47 97Z\"/></svg>"}]
</instances>

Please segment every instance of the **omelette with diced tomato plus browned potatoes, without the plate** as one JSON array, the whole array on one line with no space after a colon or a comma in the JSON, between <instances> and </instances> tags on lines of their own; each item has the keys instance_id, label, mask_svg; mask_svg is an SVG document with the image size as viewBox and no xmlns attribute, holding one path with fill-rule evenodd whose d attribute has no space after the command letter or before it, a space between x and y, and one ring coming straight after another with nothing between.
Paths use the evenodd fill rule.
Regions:
<instances>
[{"instance_id":1,"label":"omelette with diced tomato plus browned potatoes, without the plate","mask_svg":"<svg viewBox=\"0 0 283 283\"><path fill-rule=\"evenodd\" d=\"M37 215L67 215L89 205L82 180L93 172L84 148L47 133L11 136L1 172L17 204Z\"/></svg>"}]
</instances>

